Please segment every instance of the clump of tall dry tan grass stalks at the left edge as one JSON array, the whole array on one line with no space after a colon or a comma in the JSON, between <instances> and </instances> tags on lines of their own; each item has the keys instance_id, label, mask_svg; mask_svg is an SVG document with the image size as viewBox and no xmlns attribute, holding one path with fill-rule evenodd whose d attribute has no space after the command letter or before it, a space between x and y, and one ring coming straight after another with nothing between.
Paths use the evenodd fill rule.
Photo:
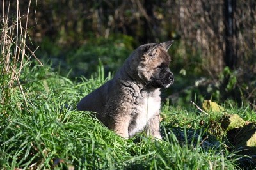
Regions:
<instances>
[{"instance_id":1,"label":"clump of tall dry tan grass stalks at the left edge","mask_svg":"<svg viewBox=\"0 0 256 170\"><path fill-rule=\"evenodd\" d=\"M8 83L5 82L2 92L6 89L12 89L15 83L18 84L20 91L26 101L26 95L20 84L19 77L22 71L22 68L29 62L33 56L40 65L42 63L35 56L35 51L29 49L27 43L28 37L28 16L29 9L31 5L31 0L29 0L28 11L26 15L20 15L19 0L16 1L16 18L15 20L10 20L10 1L6 4L6 1L3 1L3 17L1 18L1 39L0 39L0 66L1 66L1 75L7 75L9 78ZM26 17L26 22L22 22L22 17ZM25 27L23 27L23 25ZM37 48L36 48L37 49ZM26 51L28 50L28 52ZM1 99L2 102L3 98Z\"/></svg>"}]
</instances>

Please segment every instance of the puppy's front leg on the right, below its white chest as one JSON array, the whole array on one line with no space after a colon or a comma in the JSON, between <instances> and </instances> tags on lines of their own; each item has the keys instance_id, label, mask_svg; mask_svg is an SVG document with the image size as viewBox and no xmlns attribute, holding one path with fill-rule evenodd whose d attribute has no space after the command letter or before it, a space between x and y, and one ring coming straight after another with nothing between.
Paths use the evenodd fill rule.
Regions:
<instances>
[{"instance_id":1,"label":"puppy's front leg on the right, below its white chest","mask_svg":"<svg viewBox=\"0 0 256 170\"><path fill-rule=\"evenodd\" d=\"M147 132L147 135L152 135L157 139L162 139L160 134L159 118L160 118L159 113L152 116L152 118L148 120L148 124L145 130Z\"/></svg>"}]
</instances>

